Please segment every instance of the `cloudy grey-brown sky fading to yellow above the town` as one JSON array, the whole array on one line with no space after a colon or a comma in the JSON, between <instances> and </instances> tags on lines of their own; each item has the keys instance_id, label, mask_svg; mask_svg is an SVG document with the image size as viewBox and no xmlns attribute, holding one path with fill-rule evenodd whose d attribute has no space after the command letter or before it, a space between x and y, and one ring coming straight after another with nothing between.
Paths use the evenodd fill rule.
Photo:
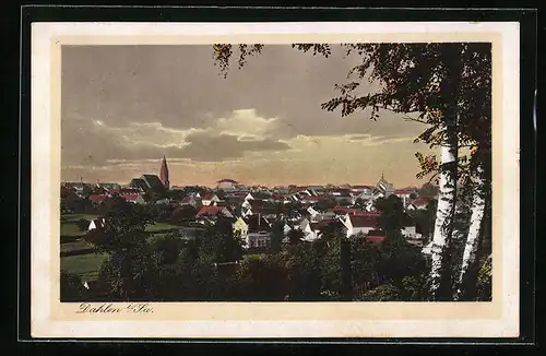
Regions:
<instances>
[{"instance_id":1,"label":"cloudy grey-brown sky fading to yellow above the town","mask_svg":"<svg viewBox=\"0 0 546 356\"><path fill-rule=\"evenodd\" d=\"M266 45L227 78L212 46L63 46L61 179L128 183L159 174L171 186L418 186L420 123L381 111L342 117L320 105L359 62ZM237 52L235 54L237 55ZM361 85L360 93L379 83Z\"/></svg>"}]
</instances>

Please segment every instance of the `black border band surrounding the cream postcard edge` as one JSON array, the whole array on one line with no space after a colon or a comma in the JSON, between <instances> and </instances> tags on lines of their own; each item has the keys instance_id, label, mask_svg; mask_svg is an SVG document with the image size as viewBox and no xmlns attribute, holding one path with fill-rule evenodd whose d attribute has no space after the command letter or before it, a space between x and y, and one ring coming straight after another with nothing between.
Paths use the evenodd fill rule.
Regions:
<instances>
[{"instance_id":1,"label":"black border band surrounding the cream postcard edge","mask_svg":"<svg viewBox=\"0 0 546 356\"><path fill-rule=\"evenodd\" d=\"M358 343L358 344L517 344L535 342L535 185L536 185L536 10L448 10L448 9L302 9L302 8L169 8L169 7L41 7L21 9L20 43L20 134L19 134L19 228L17 228L17 339L57 341L67 339L31 337L31 24L33 22L346 22L346 21L471 21L520 22L520 337L517 339L321 339L321 340L178 340L146 342L186 343ZM85 342L136 342L139 339L81 339ZM218 345L219 346L219 345Z\"/></svg>"}]
</instances>

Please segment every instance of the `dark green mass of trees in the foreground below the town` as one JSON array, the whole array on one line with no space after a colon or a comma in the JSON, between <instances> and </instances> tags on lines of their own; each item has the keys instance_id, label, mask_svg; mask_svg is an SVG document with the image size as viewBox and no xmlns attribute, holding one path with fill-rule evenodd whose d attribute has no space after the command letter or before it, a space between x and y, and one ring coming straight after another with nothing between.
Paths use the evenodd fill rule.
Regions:
<instances>
[{"instance_id":1,"label":"dark green mass of trees in the foreground below the town","mask_svg":"<svg viewBox=\"0 0 546 356\"><path fill-rule=\"evenodd\" d=\"M401 234L410 218L402 202L390 197L377 209L378 228L385 233L381 245L364 235L347 239L335 224L313 242L300 241L293 230L283 244L278 222L269 253L244 257L230 219L218 219L194 239L176 233L151 239L145 207L114 198L102 211L108 224L85 236L96 252L108 256L97 281L86 289L78 276L62 272L61 299L428 300L429 266L420 248ZM478 287L486 298L487 281Z\"/></svg>"}]
</instances>

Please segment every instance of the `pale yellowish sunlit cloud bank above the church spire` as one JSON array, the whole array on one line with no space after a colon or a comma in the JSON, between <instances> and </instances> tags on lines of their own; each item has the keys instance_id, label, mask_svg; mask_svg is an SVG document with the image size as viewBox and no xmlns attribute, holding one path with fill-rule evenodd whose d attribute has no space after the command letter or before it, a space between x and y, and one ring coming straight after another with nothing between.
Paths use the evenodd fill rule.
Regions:
<instances>
[{"instance_id":1,"label":"pale yellowish sunlit cloud bank above the church spire","mask_svg":"<svg viewBox=\"0 0 546 356\"><path fill-rule=\"evenodd\" d=\"M254 110L237 110L207 128L179 130L161 122L109 127L100 120L62 122L62 164L99 166L127 161L169 158L199 162L240 159L253 151L284 151L289 146L271 138L275 119Z\"/></svg>"}]
</instances>

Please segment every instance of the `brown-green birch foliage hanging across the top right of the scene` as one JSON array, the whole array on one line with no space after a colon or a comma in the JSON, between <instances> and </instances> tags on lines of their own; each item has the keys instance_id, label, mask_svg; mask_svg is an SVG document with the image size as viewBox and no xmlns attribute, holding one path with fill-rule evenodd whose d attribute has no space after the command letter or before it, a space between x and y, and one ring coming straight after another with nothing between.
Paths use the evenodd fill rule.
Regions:
<instances>
[{"instance_id":1,"label":"brown-green birch foliage hanging across the top right of the scene","mask_svg":"<svg viewBox=\"0 0 546 356\"><path fill-rule=\"evenodd\" d=\"M330 44L293 44L292 47L313 56L329 58ZM321 108L349 116L371 108L369 119L379 119L380 110L404 115L429 126L416 142L430 149L446 140L446 119L453 119L460 146L479 146L480 154L468 156L461 174L473 175L477 162L490 153L491 56L486 43L417 44L341 44L345 56L359 56L360 63L351 68L347 83L334 85L340 95L322 103ZM263 45L214 45L214 58L224 76L235 51L242 68L248 57L261 54ZM461 68L453 68L462 63ZM377 93L358 93L363 81L380 84ZM453 116L456 120L447 118ZM451 110L451 111L450 111ZM410 116L412 115L412 116ZM426 176L425 170L419 177Z\"/></svg>"}]
</instances>

